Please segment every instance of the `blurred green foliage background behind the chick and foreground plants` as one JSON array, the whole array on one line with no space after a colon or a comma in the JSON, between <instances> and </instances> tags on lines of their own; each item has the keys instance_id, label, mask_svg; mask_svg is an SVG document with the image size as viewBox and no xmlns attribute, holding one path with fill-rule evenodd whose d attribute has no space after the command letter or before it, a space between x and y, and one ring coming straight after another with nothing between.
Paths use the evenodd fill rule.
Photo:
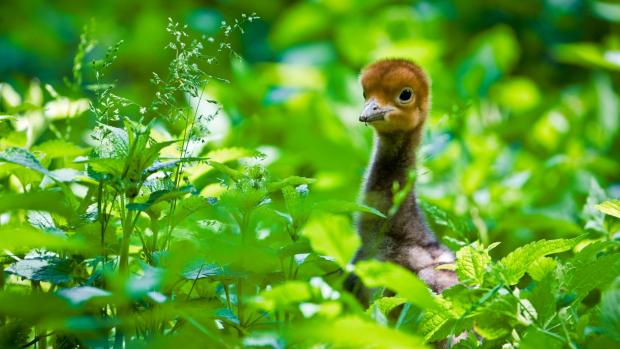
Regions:
<instances>
[{"instance_id":1,"label":"blurred green foliage background behind the chick and foreground plants","mask_svg":"<svg viewBox=\"0 0 620 349\"><path fill-rule=\"evenodd\" d=\"M0 81L21 95L36 80L62 95L87 95L63 81L90 25L98 45L84 61L124 40L106 78L118 95L146 104L155 91L152 73L165 72L172 58L163 49L168 18L218 42L222 21L241 13L260 19L246 23L243 35L233 33L238 56L212 50L218 63L206 70L227 81L210 80L206 93L222 112L195 155L258 149L273 176L316 178L317 200L355 201L373 137L357 121L358 73L375 59L403 57L432 79L417 190L434 230L452 247L500 241L492 253L503 256L584 229L610 234L591 204L620 197L615 2L2 1ZM91 70L84 74L94 81ZM94 123L87 112L70 128L57 127L86 145ZM173 134L182 127L161 125ZM53 137L48 129L35 141ZM199 190L211 181L190 179Z\"/></svg>"}]
</instances>

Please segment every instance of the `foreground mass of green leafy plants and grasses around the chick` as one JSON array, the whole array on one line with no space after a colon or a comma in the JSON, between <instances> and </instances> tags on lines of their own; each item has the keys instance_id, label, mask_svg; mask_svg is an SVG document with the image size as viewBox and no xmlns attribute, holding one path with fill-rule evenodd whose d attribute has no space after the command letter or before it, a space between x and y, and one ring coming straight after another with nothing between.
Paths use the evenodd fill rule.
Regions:
<instances>
[{"instance_id":1,"label":"foreground mass of green leafy plants and grasses around the chick","mask_svg":"<svg viewBox=\"0 0 620 349\"><path fill-rule=\"evenodd\" d=\"M350 265L360 245L351 214L381 212L316 202L312 179L272 178L256 151L203 145L221 109L205 95L220 78L204 69L221 53L239 59L229 36L256 18L223 23L221 42L193 40L170 20L174 57L153 74L149 105L106 82L121 43L86 65L94 81L84 83L82 61L95 47L88 31L67 86L90 98L46 85L44 103L37 82L24 98L0 85L0 346L617 345L620 202L605 201L596 184L583 213L588 235L536 241L499 260L489 254L496 244L458 242L448 267L461 283L436 295L394 264ZM213 113L201 112L205 103ZM86 117L96 123L89 146L70 137ZM473 226L424 208L449 228ZM376 289L368 308L343 291L349 273Z\"/></svg>"}]
</instances>

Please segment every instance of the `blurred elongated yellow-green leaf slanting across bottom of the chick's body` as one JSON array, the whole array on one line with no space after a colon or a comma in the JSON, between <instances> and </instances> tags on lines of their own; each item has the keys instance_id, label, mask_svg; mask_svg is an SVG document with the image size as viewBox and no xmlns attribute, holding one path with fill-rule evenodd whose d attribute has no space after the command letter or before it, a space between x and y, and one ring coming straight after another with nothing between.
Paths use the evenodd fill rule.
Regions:
<instances>
[{"instance_id":1,"label":"blurred elongated yellow-green leaf slanting across bottom of the chick's body","mask_svg":"<svg viewBox=\"0 0 620 349\"><path fill-rule=\"evenodd\" d=\"M426 284L400 265L377 260L361 261L355 265L355 274L367 287L388 288L422 309L437 308Z\"/></svg>"}]
</instances>

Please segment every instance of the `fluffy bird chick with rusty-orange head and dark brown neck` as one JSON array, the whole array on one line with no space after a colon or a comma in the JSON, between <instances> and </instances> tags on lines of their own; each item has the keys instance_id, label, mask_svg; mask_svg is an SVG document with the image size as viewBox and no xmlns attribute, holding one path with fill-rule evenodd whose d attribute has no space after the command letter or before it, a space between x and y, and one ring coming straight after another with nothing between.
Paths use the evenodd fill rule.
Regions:
<instances>
[{"instance_id":1,"label":"fluffy bird chick with rusty-orange head and dark brown neck","mask_svg":"<svg viewBox=\"0 0 620 349\"><path fill-rule=\"evenodd\" d=\"M376 131L362 199L387 215L394 204L394 183L405 188L415 170L416 149L430 108L430 84L420 67L402 59L380 60L364 68L361 84L365 105L359 120ZM435 292L458 282L453 271L436 269L453 263L454 254L438 242L426 224L414 185L387 219L362 213L357 227L362 247L355 261L377 258L395 262L415 272ZM355 280L347 280L345 286L368 301L363 299L369 297L367 290L360 290Z\"/></svg>"}]
</instances>

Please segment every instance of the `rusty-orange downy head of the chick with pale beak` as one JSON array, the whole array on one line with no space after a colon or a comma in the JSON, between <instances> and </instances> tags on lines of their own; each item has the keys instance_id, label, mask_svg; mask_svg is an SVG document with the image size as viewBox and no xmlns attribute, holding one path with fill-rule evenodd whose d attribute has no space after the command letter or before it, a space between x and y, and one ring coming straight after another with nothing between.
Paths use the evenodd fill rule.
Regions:
<instances>
[{"instance_id":1,"label":"rusty-orange downy head of the chick with pale beak","mask_svg":"<svg viewBox=\"0 0 620 349\"><path fill-rule=\"evenodd\" d=\"M360 121L377 132L411 131L426 120L429 108L429 81L415 63L404 59L384 59L362 70L364 110Z\"/></svg>"}]
</instances>

